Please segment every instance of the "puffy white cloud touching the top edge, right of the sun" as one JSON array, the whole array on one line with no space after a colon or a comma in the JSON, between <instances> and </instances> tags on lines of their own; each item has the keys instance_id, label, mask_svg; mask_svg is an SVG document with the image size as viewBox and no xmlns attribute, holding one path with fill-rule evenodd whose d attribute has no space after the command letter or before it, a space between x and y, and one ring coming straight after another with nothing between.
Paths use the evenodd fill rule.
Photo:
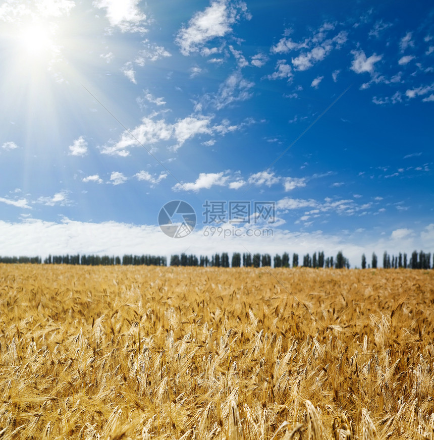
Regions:
<instances>
[{"instance_id":1,"label":"puffy white cloud touching the top edge, right of the sun","mask_svg":"<svg viewBox=\"0 0 434 440\"><path fill-rule=\"evenodd\" d=\"M105 9L105 15L112 27L118 27L121 32L144 33L147 29L146 15L138 5L140 0L94 0L93 6Z\"/></svg>"}]
</instances>

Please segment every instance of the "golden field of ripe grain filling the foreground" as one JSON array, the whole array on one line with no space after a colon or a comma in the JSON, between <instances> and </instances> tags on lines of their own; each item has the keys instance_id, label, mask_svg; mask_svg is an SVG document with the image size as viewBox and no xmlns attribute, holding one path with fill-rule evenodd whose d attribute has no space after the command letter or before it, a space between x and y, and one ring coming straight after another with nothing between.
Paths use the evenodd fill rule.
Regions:
<instances>
[{"instance_id":1,"label":"golden field of ripe grain filling the foreground","mask_svg":"<svg viewBox=\"0 0 434 440\"><path fill-rule=\"evenodd\" d=\"M0 438L434 438L434 270L0 265Z\"/></svg>"}]
</instances>

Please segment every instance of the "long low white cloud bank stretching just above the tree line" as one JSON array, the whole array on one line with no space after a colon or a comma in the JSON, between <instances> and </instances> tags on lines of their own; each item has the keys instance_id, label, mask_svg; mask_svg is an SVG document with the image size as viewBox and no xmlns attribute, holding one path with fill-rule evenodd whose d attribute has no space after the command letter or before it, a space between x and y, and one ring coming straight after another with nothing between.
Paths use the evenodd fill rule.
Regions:
<instances>
[{"instance_id":1,"label":"long low white cloud bank stretching just above the tree line","mask_svg":"<svg viewBox=\"0 0 434 440\"><path fill-rule=\"evenodd\" d=\"M228 228L232 226L227 225ZM17 240L17 237L20 239ZM369 231L355 237L342 233L324 234L320 230L307 233L278 228L274 228L272 237L252 240L252 237L245 236L222 240L218 237L204 237L203 228L200 229L199 225L188 238L174 240L154 225L88 223L71 221L68 218L59 223L40 219L27 219L20 223L0 221L0 248L3 255L40 255L44 258L48 254L64 254L66 250L70 254L140 255L143 253L143 243L146 243L147 253L164 255L168 260L170 254L180 254L185 251L186 246L189 246L189 253L196 255L210 256L215 252L229 252L231 255L232 252L242 252L243 248L251 253L282 254L288 251L288 243L291 243L291 252L299 255L322 249L327 255L336 255L342 250L352 266L360 266L363 252L368 256L374 251L379 257L385 249L391 255L398 255L403 251L409 255L413 249L434 248L434 224L422 226L402 240L392 240L389 233L383 238L369 240Z\"/></svg>"}]
</instances>

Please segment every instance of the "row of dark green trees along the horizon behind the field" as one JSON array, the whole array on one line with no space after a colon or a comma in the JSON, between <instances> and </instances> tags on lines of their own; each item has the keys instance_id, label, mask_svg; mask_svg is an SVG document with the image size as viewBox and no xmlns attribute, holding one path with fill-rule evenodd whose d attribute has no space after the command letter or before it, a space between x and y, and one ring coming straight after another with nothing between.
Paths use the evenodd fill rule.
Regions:
<instances>
[{"instance_id":1,"label":"row of dark green trees along the horizon behind the field","mask_svg":"<svg viewBox=\"0 0 434 440\"><path fill-rule=\"evenodd\" d=\"M348 258L346 258L342 251L339 251L336 257L325 257L324 252L314 252L312 255L309 253L302 256L302 260L299 259L297 253L292 254L292 258L288 252L284 252L282 255L276 254L273 258L269 254L260 253L239 253L234 252L230 257L227 252L215 253L211 257L185 253L171 255L169 260L170 266L201 266L201 267L314 267L314 268L350 268ZM0 256L0 263L32 263L42 264L42 259L39 256L35 257L10 257ZM48 255L44 260L44 264L73 264L73 265L88 265L88 266L112 266L112 265L145 265L145 266L167 266L168 261L164 256L158 255L124 255L122 258L119 256L109 255ZM378 258L372 253L370 263L367 262L365 254L362 254L361 268L378 267ZM434 268L434 254L433 263L431 266L431 253L416 250L407 256L407 254L399 252L398 255L389 255L387 251L383 254L383 267L386 269L430 269Z\"/></svg>"}]
</instances>

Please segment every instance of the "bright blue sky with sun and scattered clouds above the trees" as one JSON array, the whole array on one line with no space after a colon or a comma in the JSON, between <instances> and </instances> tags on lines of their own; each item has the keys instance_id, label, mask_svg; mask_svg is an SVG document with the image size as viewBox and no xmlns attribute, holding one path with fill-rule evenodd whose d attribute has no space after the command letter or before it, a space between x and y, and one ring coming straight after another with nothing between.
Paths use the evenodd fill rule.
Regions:
<instances>
[{"instance_id":1,"label":"bright blue sky with sun and scattered clouds above the trees","mask_svg":"<svg viewBox=\"0 0 434 440\"><path fill-rule=\"evenodd\" d=\"M1 254L434 250L430 2L9 0L0 22ZM197 225L172 239L178 199ZM250 203L239 236L206 200Z\"/></svg>"}]
</instances>

